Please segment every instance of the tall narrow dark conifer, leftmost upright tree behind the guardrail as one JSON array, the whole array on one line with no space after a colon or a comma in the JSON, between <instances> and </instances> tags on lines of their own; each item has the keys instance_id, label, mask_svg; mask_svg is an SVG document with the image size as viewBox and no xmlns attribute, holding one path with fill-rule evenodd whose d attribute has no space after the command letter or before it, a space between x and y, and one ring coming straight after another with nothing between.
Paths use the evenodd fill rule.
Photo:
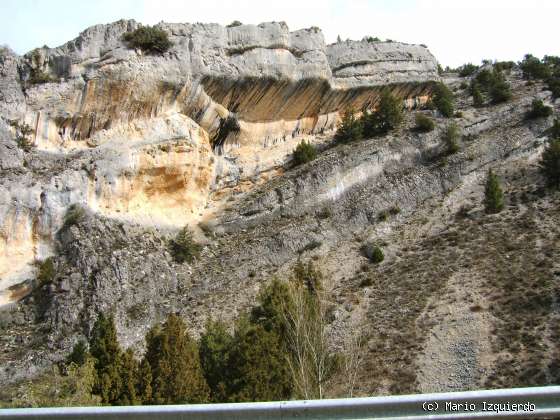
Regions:
<instances>
[{"instance_id":1,"label":"tall narrow dark conifer, leftmost upright tree behind the guardrail","mask_svg":"<svg viewBox=\"0 0 560 420\"><path fill-rule=\"evenodd\" d=\"M122 351L117 341L117 329L112 315L107 318L103 313L99 314L93 326L89 348L95 359L97 374L93 392L101 396L103 403L116 404L122 390Z\"/></svg>"}]
</instances>

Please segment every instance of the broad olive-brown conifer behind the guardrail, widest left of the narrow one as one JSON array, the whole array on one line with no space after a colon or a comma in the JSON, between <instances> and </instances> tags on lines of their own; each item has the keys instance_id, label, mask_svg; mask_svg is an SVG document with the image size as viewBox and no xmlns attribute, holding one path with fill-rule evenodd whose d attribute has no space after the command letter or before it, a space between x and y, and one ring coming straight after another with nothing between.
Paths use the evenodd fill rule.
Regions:
<instances>
[{"instance_id":1,"label":"broad olive-brown conifer behind the guardrail, widest left of the narrow one","mask_svg":"<svg viewBox=\"0 0 560 420\"><path fill-rule=\"evenodd\" d=\"M208 401L208 385L200 367L196 342L183 320L170 314L162 327L146 335L145 359L152 374L154 404L186 404Z\"/></svg>"}]
</instances>

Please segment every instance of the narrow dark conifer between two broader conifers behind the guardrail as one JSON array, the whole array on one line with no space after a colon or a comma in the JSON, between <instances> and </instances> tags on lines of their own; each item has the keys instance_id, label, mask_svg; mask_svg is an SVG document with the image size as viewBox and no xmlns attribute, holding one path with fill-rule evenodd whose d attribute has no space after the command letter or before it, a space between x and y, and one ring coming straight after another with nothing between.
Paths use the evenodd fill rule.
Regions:
<instances>
[{"instance_id":1,"label":"narrow dark conifer between two broader conifers behind the guardrail","mask_svg":"<svg viewBox=\"0 0 560 420\"><path fill-rule=\"evenodd\" d=\"M227 402L229 384L232 381L229 370L233 337L220 321L208 321L199 341L200 364L210 388L210 401Z\"/></svg>"}]
</instances>

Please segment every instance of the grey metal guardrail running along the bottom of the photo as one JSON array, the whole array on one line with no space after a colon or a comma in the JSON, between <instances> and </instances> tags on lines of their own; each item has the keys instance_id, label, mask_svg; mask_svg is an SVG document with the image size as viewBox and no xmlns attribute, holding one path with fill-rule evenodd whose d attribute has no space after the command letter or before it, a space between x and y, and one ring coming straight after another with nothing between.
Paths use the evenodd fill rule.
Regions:
<instances>
[{"instance_id":1,"label":"grey metal guardrail running along the bottom of the photo","mask_svg":"<svg viewBox=\"0 0 560 420\"><path fill-rule=\"evenodd\" d=\"M560 386L236 404L20 408L0 419L513 419L560 416Z\"/></svg>"}]
</instances>

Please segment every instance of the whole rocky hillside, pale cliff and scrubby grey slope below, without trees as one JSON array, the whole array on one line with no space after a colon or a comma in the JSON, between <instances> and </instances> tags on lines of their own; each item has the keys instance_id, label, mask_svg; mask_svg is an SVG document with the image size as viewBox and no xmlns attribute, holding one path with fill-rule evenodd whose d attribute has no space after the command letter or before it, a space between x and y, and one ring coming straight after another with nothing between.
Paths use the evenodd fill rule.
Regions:
<instances>
[{"instance_id":1,"label":"whole rocky hillside, pale cliff and scrubby grey slope below, without trees","mask_svg":"<svg viewBox=\"0 0 560 420\"><path fill-rule=\"evenodd\" d=\"M440 77L421 46L325 45L314 28L277 23L162 24L174 46L152 56L119 41L136 27L0 57L2 383L62 360L99 312L138 355L169 313L195 337L210 317L231 326L297 261L323 274L329 348L360 360L353 395L560 380L560 194L538 168L553 117L527 119L534 99L557 114L545 84L514 68L510 100L474 107L468 78ZM26 85L38 65L57 81ZM419 111L440 80L452 118ZM404 122L336 144L342 114L384 87ZM435 130L415 130L417 112ZM33 127L30 150L14 121ZM459 151L443 156L450 121ZM294 167L303 139L318 157ZM497 214L483 205L490 168ZM203 247L178 263L168 241L185 225ZM366 258L368 243L383 262ZM35 260L48 257L41 283ZM346 395L347 381L327 394Z\"/></svg>"}]
</instances>

